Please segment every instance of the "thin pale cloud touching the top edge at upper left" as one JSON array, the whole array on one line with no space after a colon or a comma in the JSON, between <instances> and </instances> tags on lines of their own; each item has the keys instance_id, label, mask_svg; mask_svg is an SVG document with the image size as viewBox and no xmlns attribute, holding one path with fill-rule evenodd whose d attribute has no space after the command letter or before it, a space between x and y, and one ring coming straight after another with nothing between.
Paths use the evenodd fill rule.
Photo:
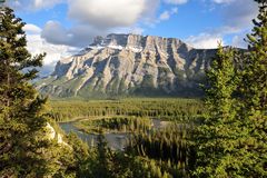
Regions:
<instances>
[{"instance_id":1,"label":"thin pale cloud touching the top edge at upper left","mask_svg":"<svg viewBox=\"0 0 267 178\"><path fill-rule=\"evenodd\" d=\"M66 0L8 0L8 4L18 10L41 10L49 9Z\"/></svg>"}]
</instances>

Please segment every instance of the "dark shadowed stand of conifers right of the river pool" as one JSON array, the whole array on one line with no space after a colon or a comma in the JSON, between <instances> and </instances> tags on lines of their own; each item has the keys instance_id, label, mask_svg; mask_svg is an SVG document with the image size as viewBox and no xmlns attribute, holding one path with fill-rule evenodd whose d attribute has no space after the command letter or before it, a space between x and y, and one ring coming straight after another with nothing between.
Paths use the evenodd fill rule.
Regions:
<instances>
[{"instance_id":1,"label":"dark shadowed stand of conifers right of the river pool","mask_svg":"<svg viewBox=\"0 0 267 178\"><path fill-rule=\"evenodd\" d=\"M129 149L134 149L140 156L185 165L188 162L188 155L190 155L188 137L190 137L191 130L192 126L174 123L149 134L138 132L130 141Z\"/></svg>"}]
</instances>

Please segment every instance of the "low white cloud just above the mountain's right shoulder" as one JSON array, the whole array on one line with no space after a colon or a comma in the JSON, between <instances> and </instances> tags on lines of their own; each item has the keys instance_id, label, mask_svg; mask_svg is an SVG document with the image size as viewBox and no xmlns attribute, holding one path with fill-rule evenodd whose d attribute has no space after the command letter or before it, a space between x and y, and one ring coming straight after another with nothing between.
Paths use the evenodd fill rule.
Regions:
<instances>
[{"instance_id":1,"label":"low white cloud just above the mountain's right shoulder","mask_svg":"<svg viewBox=\"0 0 267 178\"><path fill-rule=\"evenodd\" d=\"M218 47L219 42L221 42L221 44L224 46L224 40L220 36L212 36L209 33L190 36L186 39L186 42L197 49L214 49Z\"/></svg>"}]
</instances>

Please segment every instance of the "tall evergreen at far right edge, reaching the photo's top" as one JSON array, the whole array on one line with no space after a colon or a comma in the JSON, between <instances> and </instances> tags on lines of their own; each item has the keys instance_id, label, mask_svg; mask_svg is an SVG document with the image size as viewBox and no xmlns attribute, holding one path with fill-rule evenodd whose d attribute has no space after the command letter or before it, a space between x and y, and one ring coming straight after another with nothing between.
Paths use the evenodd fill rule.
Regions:
<instances>
[{"instance_id":1,"label":"tall evergreen at far right edge, reaching the photo's top","mask_svg":"<svg viewBox=\"0 0 267 178\"><path fill-rule=\"evenodd\" d=\"M248 34L249 53L244 67L243 93L246 110L251 115L258 112L266 116L267 110L267 1L259 2L258 19L253 33Z\"/></svg>"}]
</instances>

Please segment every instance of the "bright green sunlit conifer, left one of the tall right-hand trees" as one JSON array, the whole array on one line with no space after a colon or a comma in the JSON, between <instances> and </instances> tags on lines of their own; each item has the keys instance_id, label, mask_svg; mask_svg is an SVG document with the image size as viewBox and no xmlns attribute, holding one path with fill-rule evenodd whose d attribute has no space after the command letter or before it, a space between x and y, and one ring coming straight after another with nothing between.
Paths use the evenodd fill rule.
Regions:
<instances>
[{"instance_id":1,"label":"bright green sunlit conifer, left one of the tall right-hand trees","mask_svg":"<svg viewBox=\"0 0 267 178\"><path fill-rule=\"evenodd\" d=\"M235 177L239 171L237 152L241 138L239 120L236 119L236 99L239 77L234 57L235 50L218 49L217 57L207 72L206 113L197 130L197 177Z\"/></svg>"}]
</instances>

